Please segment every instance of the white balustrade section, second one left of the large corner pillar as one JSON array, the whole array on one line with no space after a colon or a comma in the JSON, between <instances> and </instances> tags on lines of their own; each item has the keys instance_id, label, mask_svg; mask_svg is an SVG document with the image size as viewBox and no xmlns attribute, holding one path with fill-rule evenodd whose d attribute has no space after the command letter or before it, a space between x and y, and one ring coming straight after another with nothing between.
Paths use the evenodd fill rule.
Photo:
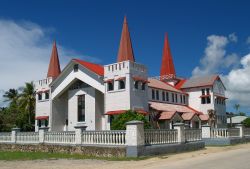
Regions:
<instances>
[{"instance_id":1,"label":"white balustrade section, second one left of the large corner pillar","mask_svg":"<svg viewBox=\"0 0 250 169\"><path fill-rule=\"evenodd\" d=\"M75 144L75 132L45 132L44 142L56 144Z\"/></svg>"}]
</instances>

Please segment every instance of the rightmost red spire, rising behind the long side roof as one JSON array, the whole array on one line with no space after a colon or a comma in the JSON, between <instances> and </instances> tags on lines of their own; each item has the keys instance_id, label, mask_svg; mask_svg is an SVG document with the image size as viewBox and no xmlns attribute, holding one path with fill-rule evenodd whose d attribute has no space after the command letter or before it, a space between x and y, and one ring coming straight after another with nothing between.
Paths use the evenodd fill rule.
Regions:
<instances>
[{"instance_id":1,"label":"rightmost red spire, rising behind the long side roof","mask_svg":"<svg viewBox=\"0 0 250 169\"><path fill-rule=\"evenodd\" d=\"M163 76L169 76L169 78L175 77L174 63L173 63L173 58L170 52L167 33L165 35L163 54L162 54L162 63L161 63L161 77Z\"/></svg>"}]
</instances>

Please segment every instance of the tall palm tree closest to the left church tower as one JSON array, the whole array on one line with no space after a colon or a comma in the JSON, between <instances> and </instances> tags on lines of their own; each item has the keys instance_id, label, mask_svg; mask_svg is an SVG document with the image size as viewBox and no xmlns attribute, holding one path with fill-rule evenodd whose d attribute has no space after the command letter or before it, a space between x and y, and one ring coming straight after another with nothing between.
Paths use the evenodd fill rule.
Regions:
<instances>
[{"instance_id":1,"label":"tall palm tree closest to the left church tower","mask_svg":"<svg viewBox=\"0 0 250 169\"><path fill-rule=\"evenodd\" d=\"M29 124L31 124L31 116L35 110L35 90L33 82L25 83L25 87L21 89L20 94L20 107L24 109L25 113L28 114Z\"/></svg>"}]
</instances>

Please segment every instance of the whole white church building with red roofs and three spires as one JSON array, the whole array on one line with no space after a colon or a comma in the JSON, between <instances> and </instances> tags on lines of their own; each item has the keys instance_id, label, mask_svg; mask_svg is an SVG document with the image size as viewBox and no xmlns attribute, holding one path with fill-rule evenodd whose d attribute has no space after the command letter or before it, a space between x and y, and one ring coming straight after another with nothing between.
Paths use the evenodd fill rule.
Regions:
<instances>
[{"instance_id":1,"label":"whole white church building with red roofs and three spires","mask_svg":"<svg viewBox=\"0 0 250 169\"><path fill-rule=\"evenodd\" d=\"M61 71L54 42L47 77L35 89L36 131L40 126L109 130L111 117L127 110L145 115L159 129L171 129L176 122L189 128L226 125L226 88L220 77L178 77L167 34L160 75L148 77L147 67L135 61L126 17L117 62L103 66L72 59Z\"/></svg>"}]
</instances>

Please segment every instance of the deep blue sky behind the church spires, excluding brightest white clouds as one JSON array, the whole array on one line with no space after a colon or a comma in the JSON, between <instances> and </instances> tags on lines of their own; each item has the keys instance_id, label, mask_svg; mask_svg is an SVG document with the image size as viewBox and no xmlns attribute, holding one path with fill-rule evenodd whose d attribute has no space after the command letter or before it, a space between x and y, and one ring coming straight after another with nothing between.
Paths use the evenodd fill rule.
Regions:
<instances>
[{"instance_id":1,"label":"deep blue sky behind the church spires, excluding brightest white clouds","mask_svg":"<svg viewBox=\"0 0 250 169\"><path fill-rule=\"evenodd\" d=\"M32 43L32 48L39 49L37 52L45 51L44 56L37 56L43 62L40 66L44 75L53 39L57 40L59 48L62 49L61 51L59 49L59 54L63 65L72 57L80 57L100 64L115 62L123 17L126 15L136 61L147 65L150 76L159 75L164 33L168 32L175 68L179 76L190 77L194 74L202 74L202 71L193 72L198 67L199 70L206 70L205 74L222 74L228 83L232 80L229 77L230 72L241 70L244 65L240 61L249 53L250 38L247 43L247 38L250 36L249 6L250 2L247 1L218 2L215 0L2 0L0 2L0 21L3 21L3 25L7 25L7 22L12 26L13 24L19 26L25 30L22 32L35 30L30 35L33 40L29 42ZM9 36L6 39L10 39ZM226 41L223 41L225 39ZM26 41L27 39L23 42ZM222 44L219 43L218 47L217 42L222 42ZM206 49L211 49L209 44L210 47L212 44L212 52L215 52L215 55L218 54L217 50L219 50L219 55L220 52L224 53L223 56L218 56L221 64L207 69L206 64L210 65L211 61L204 58L206 55L210 57L211 52L205 52ZM215 49L213 44L215 44ZM30 53L32 54L32 52ZM228 55L230 57L227 58ZM231 57L232 55L234 56ZM25 58L25 55L23 57ZM34 59L38 62L34 58L35 55L26 58L29 57L29 61ZM214 55L212 57L217 58ZM200 62L202 59L205 60L203 64ZM225 61L229 62L227 66L223 66ZM24 67L28 66L28 63L23 64ZM34 75L29 77L39 79L42 78L41 75L35 76L34 72ZM30 79L24 77L23 80ZM10 82L14 83L11 80ZM239 95L239 93L237 96L235 94L236 85L229 86L231 93L234 92L234 95L230 94L231 97ZM6 86L0 84L0 90L6 90ZM250 94L250 91L247 90L247 93ZM246 98L247 96L242 98L244 100L242 110L249 111ZM231 105L236 102L241 103L242 99L232 99ZM231 107L229 106L228 109L232 110Z\"/></svg>"}]
</instances>

